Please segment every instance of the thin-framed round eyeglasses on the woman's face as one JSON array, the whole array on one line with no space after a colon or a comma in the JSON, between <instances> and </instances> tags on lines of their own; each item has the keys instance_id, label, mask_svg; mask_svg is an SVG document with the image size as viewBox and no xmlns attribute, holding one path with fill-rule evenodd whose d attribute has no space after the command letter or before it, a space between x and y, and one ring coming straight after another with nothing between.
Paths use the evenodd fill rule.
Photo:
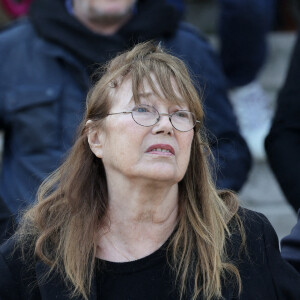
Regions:
<instances>
[{"instance_id":1,"label":"thin-framed round eyeglasses on the woman's face","mask_svg":"<svg viewBox=\"0 0 300 300\"><path fill-rule=\"evenodd\" d=\"M111 115L131 114L132 119L139 125L150 127L155 125L161 116L168 116L172 126L178 131L190 131L200 121L196 120L195 115L187 110L178 110L172 114L159 113L153 106L137 105L132 111L122 111L118 113L110 113Z\"/></svg>"}]
</instances>

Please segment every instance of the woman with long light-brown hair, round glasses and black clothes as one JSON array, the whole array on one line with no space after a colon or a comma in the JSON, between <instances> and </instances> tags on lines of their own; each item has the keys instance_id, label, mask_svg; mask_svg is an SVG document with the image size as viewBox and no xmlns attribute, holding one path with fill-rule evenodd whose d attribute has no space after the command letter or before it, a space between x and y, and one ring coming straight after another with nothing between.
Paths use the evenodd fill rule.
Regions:
<instances>
[{"instance_id":1,"label":"woman with long light-brown hair, round glasses and black clothes","mask_svg":"<svg viewBox=\"0 0 300 300\"><path fill-rule=\"evenodd\" d=\"M0 299L299 299L268 221L216 191L202 123L179 59L151 43L113 59L1 248Z\"/></svg>"}]
</instances>

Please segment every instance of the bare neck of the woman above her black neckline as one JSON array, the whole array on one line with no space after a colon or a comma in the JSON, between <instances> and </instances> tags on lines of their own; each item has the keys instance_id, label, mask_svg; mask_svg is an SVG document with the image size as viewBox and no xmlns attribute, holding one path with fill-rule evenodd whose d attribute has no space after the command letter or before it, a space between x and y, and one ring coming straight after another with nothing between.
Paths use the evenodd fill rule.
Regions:
<instances>
[{"instance_id":1,"label":"bare neck of the woman above her black neckline","mask_svg":"<svg viewBox=\"0 0 300 300\"><path fill-rule=\"evenodd\" d=\"M97 256L110 261L147 256L168 239L177 216L177 184L109 188L108 226L99 233Z\"/></svg>"}]
</instances>

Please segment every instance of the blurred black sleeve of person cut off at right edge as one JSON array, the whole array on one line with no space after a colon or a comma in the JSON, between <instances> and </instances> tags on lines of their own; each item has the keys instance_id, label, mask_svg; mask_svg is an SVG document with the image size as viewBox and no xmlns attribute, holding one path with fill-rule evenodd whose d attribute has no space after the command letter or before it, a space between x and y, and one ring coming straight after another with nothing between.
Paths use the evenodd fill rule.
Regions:
<instances>
[{"instance_id":1,"label":"blurred black sleeve of person cut off at right edge","mask_svg":"<svg viewBox=\"0 0 300 300\"><path fill-rule=\"evenodd\" d=\"M290 67L279 92L265 147L270 166L288 202L300 208L300 31Z\"/></svg>"}]
</instances>

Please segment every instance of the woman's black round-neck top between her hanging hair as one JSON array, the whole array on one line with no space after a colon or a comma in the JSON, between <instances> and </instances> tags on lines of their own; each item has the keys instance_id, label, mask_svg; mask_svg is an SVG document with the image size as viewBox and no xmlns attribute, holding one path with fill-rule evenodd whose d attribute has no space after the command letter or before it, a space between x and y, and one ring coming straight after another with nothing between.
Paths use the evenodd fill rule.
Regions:
<instances>
[{"instance_id":1,"label":"woman's black round-neck top between her hanging hair","mask_svg":"<svg viewBox=\"0 0 300 300\"><path fill-rule=\"evenodd\" d=\"M132 262L114 263L97 259L97 299L178 299L174 276L166 259L166 245Z\"/></svg>"}]
</instances>

